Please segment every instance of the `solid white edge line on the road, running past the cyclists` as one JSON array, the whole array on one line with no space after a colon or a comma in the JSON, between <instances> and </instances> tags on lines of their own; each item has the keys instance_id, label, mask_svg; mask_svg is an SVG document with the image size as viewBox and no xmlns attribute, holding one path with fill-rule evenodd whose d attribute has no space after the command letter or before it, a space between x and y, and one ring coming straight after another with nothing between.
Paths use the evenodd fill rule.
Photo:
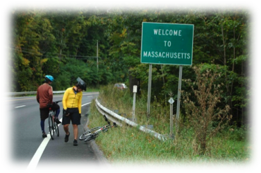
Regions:
<instances>
[{"instance_id":1,"label":"solid white edge line on the road, running past the cyclists","mask_svg":"<svg viewBox=\"0 0 261 173\"><path fill-rule=\"evenodd\" d=\"M90 104L91 102L87 102L86 104ZM86 104L83 104L82 107ZM62 122L62 118L60 118L60 122ZM60 124L59 124L60 125ZM58 125L58 127L59 127ZM34 172L35 168L38 165L38 162L40 161L40 158L42 156L42 153L44 152L45 147L47 147L47 144L49 143L49 140L51 139L50 133L47 134L47 138L44 138L42 140L42 143L38 147L38 149L35 152L35 155L33 155L33 158L31 159L29 165L26 168L26 172Z\"/></svg>"}]
</instances>

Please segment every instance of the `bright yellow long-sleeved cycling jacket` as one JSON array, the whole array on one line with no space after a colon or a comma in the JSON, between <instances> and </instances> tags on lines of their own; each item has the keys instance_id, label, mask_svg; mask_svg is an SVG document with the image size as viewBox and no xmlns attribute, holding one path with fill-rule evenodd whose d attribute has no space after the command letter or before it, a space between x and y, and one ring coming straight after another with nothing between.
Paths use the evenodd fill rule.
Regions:
<instances>
[{"instance_id":1,"label":"bright yellow long-sleeved cycling jacket","mask_svg":"<svg viewBox=\"0 0 261 173\"><path fill-rule=\"evenodd\" d=\"M74 86L68 88L62 98L63 109L78 107L79 113L81 113L81 100L83 98L83 92L74 93Z\"/></svg>"}]
</instances>

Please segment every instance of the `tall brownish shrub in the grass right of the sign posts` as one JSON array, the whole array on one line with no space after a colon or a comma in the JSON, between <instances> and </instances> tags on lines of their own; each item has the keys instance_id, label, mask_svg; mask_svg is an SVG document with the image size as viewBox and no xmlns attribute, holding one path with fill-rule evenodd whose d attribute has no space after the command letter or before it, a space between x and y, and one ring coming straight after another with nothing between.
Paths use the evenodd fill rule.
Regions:
<instances>
[{"instance_id":1,"label":"tall brownish shrub in the grass right of the sign posts","mask_svg":"<svg viewBox=\"0 0 261 173\"><path fill-rule=\"evenodd\" d=\"M221 129L223 122L228 122L232 116L228 116L230 107L226 105L224 109L217 107L221 102L220 90L222 84L214 84L214 81L221 75L217 73L219 66L213 69L205 69L204 64L193 67L196 74L196 81L185 80L192 88L194 100L190 93L183 93L183 102L185 113L192 121L194 129L194 151L198 154L204 154L207 148L208 137Z\"/></svg>"}]
</instances>

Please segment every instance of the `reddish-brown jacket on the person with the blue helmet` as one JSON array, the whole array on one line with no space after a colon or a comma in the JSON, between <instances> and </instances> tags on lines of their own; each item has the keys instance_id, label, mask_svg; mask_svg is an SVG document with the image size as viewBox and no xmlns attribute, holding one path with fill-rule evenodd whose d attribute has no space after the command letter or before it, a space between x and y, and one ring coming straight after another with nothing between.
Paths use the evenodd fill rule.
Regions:
<instances>
[{"instance_id":1,"label":"reddish-brown jacket on the person with the blue helmet","mask_svg":"<svg viewBox=\"0 0 261 173\"><path fill-rule=\"evenodd\" d=\"M53 103L53 87L47 83L42 84L37 89L36 100L40 104L40 109Z\"/></svg>"}]
</instances>

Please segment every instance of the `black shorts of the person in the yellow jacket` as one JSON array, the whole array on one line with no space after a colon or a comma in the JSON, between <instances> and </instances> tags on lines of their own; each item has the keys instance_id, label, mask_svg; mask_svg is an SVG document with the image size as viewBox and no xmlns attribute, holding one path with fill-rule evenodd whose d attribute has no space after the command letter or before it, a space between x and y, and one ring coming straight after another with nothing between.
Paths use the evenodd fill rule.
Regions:
<instances>
[{"instance_id":1,"label":"black shorts of the person in the yellow jacket","mask_svg":"<svg viewBox=\"0 0 261 173\"><path fill-rule=\"evenodd\" d=\"M62 114L62 125L69 125L70 122L73 125L81 125L81 116L78 107L67 108L67 111L69 112L69 116Z\"/></svg>"}]
</instances>

